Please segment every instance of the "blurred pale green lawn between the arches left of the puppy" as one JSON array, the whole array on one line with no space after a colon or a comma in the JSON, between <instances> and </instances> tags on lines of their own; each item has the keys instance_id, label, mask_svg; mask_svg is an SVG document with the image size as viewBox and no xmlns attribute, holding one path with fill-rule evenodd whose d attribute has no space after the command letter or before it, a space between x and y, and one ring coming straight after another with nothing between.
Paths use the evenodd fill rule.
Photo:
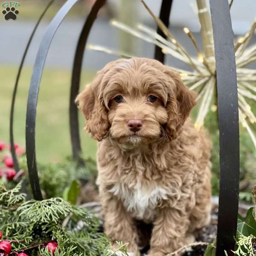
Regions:
<instances>
[{"instance_id":1,"label":"blurred pale green lawn between the arches left of the puppy","mask_svg":"<svg viewBox=\"0 0 256 256\"><path fill-rule=\"evenodd\" d=\"M17 68L0 65L0 140L9 142L9 113ZM26 103L32 69L25 67L20 77L15 104L15 142L25 146ZM81 89L95 72L84 72ZM36 151L41 163L58 162L71 155L69 135L70 70L45 69L41 81L36 116ZM83 155L95 159L96 142L83 131L84 119L79 113Z\"/></svg>"}]
</instances>

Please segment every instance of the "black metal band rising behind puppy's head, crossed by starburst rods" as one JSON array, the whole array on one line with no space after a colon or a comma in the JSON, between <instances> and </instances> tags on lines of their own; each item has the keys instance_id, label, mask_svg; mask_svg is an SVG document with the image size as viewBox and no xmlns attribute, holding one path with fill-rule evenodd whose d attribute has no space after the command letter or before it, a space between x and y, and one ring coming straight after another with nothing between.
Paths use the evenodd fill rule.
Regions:
<instances>
[{"instance_id":1,"label":"black metal band rising behind puppy's head, crossed by starburst rods","mask_svg":"<svg viewBox=\"0 0 256 256\"><path fill-rule=\"evenodd\" d=\"M166 25L166 27L169 27L169 18L171 14L171 9L172 9L172 0L163 0L161 9L160 9L159 18ZM163 33L163 31L159 27L157 27L157 34L161 35L163 38L166 38L166 35ZM157 61L164 63L165 54L162 52L161 47L157 45L155 46L154 58Z\"/></svg>"}]
</instances>

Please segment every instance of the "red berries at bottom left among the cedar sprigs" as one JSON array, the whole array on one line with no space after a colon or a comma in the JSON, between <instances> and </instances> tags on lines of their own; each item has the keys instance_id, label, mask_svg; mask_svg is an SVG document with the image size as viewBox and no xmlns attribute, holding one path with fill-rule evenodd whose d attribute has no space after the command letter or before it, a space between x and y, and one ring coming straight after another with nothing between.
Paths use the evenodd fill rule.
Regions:
<instances>
[{"instance_id":1,"label":"red berries at bottom left among the cedar sprigs","mask_svg":"<svg viewBox=\"0 0 256 256\"><path fill-rule=\"evenodd\" d=\"M1 240L2 239L2 232L0 231L0 255L7 256L12 252L12 245L11 243L14 243L15 241L8 241L8 240ZM49 252L52 252L52 254L55 254L55 250L58 247L58 243L55 241L49 241L45 244L45 247L48 248ZM29 256L28 254L24 253L23 251L29 250L31 248L25 248L22 250L22 252L12 252L15 254L15 256Z\"/></svg>"}]
</instances>

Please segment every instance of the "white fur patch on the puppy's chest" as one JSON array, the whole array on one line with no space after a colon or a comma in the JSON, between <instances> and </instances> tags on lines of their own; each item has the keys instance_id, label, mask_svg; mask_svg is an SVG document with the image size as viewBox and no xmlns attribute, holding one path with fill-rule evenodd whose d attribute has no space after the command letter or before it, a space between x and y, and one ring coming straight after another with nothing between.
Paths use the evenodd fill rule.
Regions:
<instances>
[{"instance_id":1,"label":"white fur patch on the puppy's chest","mask_svg":"<svg viewBox=\"0 0 256 256\"><path fill-rule=\"evenodd\" d=\"M161 186L147 187L137 183L136 186L128 188L122 184L116 184L110 190L119 197L128 212L134 218L152 221L157 203L167 199L167 191Z\"/></svg>"}]
</instances>

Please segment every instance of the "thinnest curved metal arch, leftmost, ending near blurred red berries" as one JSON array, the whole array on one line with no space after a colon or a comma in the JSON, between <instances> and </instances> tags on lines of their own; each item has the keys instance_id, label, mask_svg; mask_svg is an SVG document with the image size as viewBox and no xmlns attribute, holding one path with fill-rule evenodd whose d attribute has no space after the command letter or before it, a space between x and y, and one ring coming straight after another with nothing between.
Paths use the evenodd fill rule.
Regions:
<instances>
[{"instance_id":1,"label":"thinnest curved metal arch, leftmost, ending near blurred red berries","mask_svg":"<svg viewBox=\"0 0 256 256\"><path fill-rule=\"evenodd\" d=\"M15 168L16 172L18 172L20 170L20 167L19 167L19 163L18 163L18 160L17 160L17 157L16 157L15 147L14 147L13 117L14 117L14 107L15 107L15 99L16 99L16 94L17 94L17 88L18 88L18 84L19 84L19 80L20 80L20 73L21 73L21 70L23 68L23 64L24 64L27 52L29 50L29 46L31 44L31 41L32 41L34 35L35 35L35 31L38 28L38 25L39 25L40 21L44 17L44 14L47 12L47 10L49 9L49 7L52 5L53 2L54 2L54 0L49 1L47 6L45 7L44 11L42 12L40 17L38 18L38 21L35 24L34 29L32 30L32 33L29 37L29 40L26 44L25 51L24 51L23 56L22 56L21 61L20 61L20 66L19 66L19 69L18 69L18 73L17 73L17 76L16 76L15 85L14 85L14 89L13 89L13 93L12 93L12 104L11 104L11 112L10 112L9 132L10 132L11 154L12 154L12 159L13 159L14 168Z\"/></svg>"}]
</instances>

